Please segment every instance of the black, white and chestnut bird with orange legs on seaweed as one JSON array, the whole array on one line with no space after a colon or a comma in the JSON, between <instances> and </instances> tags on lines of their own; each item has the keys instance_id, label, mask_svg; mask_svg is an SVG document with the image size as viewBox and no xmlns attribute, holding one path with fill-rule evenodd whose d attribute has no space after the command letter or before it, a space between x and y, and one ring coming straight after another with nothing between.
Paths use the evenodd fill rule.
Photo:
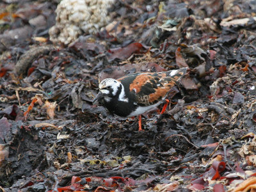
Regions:
<instances>
[{"instance_id":1,"label":"black, white and chestnut bird with orange legs on seaweed","mask_svg":"<svg viewBox=\"0 0 256 192\"><path fill-rule=\"evenodd\" d=\"M137 72L119 79L106 78L99 83L99 93L93 104L104 106L111 114L129 118L155 109L164 103L161 114L168 106L166 99L171 88L186 74L188 67L165 72Z\"/></svg>"}]
</instances>

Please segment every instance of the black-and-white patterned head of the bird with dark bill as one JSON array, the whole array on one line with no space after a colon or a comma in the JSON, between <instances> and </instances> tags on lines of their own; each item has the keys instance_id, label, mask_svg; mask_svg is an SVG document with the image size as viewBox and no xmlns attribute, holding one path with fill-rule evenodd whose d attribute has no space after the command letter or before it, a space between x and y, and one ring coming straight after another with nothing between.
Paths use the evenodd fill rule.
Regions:
<instances>
[{"instance_id":1,"label":"black-and-white patterned head of the bird with dark bill","mask_svg":"<svg viewBox=\"0 0 256 192\"><path fill-rule=\"evenodd\" d=\"M98 102L99 104L104 104L104 102L109 102L113 97L116 97L118 88L122 86L119 81L115 79L107 78L100 82L99 93L93 99L93 104Z\"/></svg>"}]
</instances>

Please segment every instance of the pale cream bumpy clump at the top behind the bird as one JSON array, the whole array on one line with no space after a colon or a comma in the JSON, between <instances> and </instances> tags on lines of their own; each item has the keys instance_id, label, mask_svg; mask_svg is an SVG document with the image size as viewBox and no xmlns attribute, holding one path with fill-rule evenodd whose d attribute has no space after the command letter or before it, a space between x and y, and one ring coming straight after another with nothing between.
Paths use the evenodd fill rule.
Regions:
<instances>
[{"instance_id":1,"label":"pale cream bumpy clump at the top behind the bird","mask_svg":"<svg viewBox=\"0 0 256 192\"><path fill-rule=\"evenodd\" d=\"M56 9L56 24L49 30L55 44L70 44L82 33L97 33L109 22L108 8L115 0L62 0Z\"/></svg>"}]
</instances>

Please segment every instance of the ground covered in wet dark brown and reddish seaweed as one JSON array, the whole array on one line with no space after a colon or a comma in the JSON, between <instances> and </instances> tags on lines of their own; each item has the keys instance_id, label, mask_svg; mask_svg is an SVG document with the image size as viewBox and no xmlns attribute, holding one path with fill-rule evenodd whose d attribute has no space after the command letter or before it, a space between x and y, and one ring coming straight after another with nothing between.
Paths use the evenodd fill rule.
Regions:
<instances>
[{"instance_id":1,"label":"ground covered in wet dark brown and reddish seaweed","mask_svg":"<svg viewBox=\"0 0 256 192\"><path fill-rule=\"evenodd\" d=\"M231 191L253 179L253 2L118 1L114 27L61 46L48 35L57 3L1 2L1 190ZM106 77L181 67L145 131L92 104Z\"/></svg>"}]
</instances>

